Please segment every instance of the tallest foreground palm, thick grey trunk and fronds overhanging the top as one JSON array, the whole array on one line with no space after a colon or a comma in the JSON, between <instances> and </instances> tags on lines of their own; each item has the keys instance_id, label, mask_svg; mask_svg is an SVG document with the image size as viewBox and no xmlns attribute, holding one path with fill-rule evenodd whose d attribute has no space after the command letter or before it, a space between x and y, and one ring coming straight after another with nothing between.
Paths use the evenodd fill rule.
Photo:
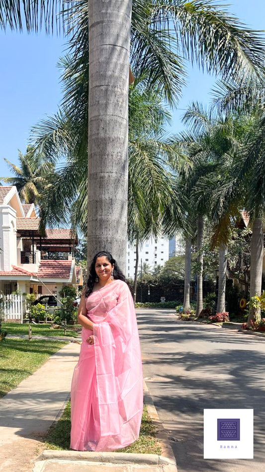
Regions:
<instances>
[{"instance_id":1,"label":"tallest foreground palm, thick grey trunk and fronds overhanging the top","mask_svg":"<svg viewBox=\"0 0 265 472\"><path fill-rule=\"evenodd\" d=\"M58 5L63 11L64 28L72 34L71 47L77 67L80 61L88 64L89 35L88 195L93 205L90 211L89 200L88 251L96 251L107 244L125 261L130 26L135 74L147 74L147 83L163 89L171 103L177 101L183 83L183 56L196 60L209 72L220 73L225 79L239 74L259 76L264 43L256 32L246 30L235 17L209 0L82 0L74 3L52 0L40 5L35 0L24 4L23 13L17 2L2 2L0 25L21 29L24 21L28 29L37 29L45 18L46 29L53 28ZM112 28L112 22L116 27ZM170 24L174 25L173 31L169 30ZM158 47L165 37L164 48ZM180 51L179 54L174 54L174 50ZM84 79L88 80L88 76ZM114 100L115 92L118 100ZM110 145L114 135L116 152ZM116 172L119 180L113 178ZM121 192L116 192L117 182ZM109 217L113 214L116 225ZM90 258L90 252L88 256Z\"/></svg>"}]
</instances>

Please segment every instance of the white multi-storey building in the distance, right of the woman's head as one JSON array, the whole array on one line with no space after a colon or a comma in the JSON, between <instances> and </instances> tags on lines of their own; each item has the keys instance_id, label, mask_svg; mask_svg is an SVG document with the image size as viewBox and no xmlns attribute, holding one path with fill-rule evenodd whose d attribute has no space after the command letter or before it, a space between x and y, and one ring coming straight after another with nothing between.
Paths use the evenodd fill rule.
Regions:
<instances>
[{"instance_id":1,"label":"white multi-storey building in the distance, right of the woman's head","mask_svg":"<svg viewBox=\"0 0 265 472\"><path fill-rule=\"evenodd\" d=\"M139 247L138 272L142 265L148 264L151 271L158 265L164 266L169 260L169 240L166 236L151 237ZM136 246L127 243L126 277L133 279L135 273Z\"/></svg>"}]
</instances>

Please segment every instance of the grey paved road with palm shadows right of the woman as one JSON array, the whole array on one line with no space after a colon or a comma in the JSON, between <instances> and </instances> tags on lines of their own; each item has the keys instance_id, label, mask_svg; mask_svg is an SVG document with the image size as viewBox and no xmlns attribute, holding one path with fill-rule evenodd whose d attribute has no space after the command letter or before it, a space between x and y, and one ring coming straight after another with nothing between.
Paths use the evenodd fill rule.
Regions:
<instances>
[{"instance_id":1,"label":"grey paved road with palm shadows right of the woman","mask_svg":"<svg viewBox=\"0 0 265 472\"><path fill-rule=\"evenodd\" d=\"M144 377L178 472L263 472L265 338L137 310ZM254 459L203 459L203 409L254 408Z\"/></svg>"}]
</instances>

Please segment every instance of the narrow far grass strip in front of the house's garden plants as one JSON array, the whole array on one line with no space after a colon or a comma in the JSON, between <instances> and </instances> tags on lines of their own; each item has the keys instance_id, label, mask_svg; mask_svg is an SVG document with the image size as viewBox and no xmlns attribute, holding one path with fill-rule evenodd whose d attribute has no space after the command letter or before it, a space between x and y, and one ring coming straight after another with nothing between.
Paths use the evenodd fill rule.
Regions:
<instances>
[{"instance_id":1,"label":"narrow far grass strip in front of the house's garden plants","mask_svg":"<svg viewBox=\"0 0 265 472\"><path fill-rule=\"evenodd\" d=\"M66 334L64 329L53 329L49 323L41 324L30 324L32 334L35 336L71 336L78 337L79 331L81 331L80 324L68 325ZM28 324L21 323L2 323L2 330L7 331L8 334L28 334Z\"/></svg>"}]
</instances>

